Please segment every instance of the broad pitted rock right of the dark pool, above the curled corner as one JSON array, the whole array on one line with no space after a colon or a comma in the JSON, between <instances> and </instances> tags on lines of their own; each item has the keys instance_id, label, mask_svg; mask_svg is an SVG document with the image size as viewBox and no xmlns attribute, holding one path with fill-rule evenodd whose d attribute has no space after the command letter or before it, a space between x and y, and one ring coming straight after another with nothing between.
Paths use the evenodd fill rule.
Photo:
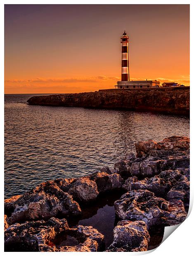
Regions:
<instances>
[{"instance_id":1,"label":"broad pitted rock right of the dark pool, above the curled corner","mask_svg":"<svg viewBox=\"0 0 194 256\"><path fill-rule=\"evenodd\" d=\"M132 190L123 194L121 199L115 201L115 213L118 218L127 220L143 220L147 227L152 225L168 225L181 223L187 217L182 201L172 202L163 198L155 197L148 190ZM175 225L175 224L173 224Z\"/></svg>"}]
</instances>

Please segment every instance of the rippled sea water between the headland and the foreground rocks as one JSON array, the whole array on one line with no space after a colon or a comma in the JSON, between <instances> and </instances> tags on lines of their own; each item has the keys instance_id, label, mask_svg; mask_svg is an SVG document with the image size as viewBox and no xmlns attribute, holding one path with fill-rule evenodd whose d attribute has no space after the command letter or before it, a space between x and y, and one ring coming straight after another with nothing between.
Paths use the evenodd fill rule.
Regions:
<instances>
[{"instance_id":1,"label":"rippled sea water between the headland and the foreground rocks","mask_svg":"<svg viewBox=\"0 0 194 256\"><path fill-rule=\"evenodd\" d=\"M42 107L5 95L5 198L39 183L112 166L134 142L189 136L189 119L132 111Z\"/></svg>"}]
</instances>

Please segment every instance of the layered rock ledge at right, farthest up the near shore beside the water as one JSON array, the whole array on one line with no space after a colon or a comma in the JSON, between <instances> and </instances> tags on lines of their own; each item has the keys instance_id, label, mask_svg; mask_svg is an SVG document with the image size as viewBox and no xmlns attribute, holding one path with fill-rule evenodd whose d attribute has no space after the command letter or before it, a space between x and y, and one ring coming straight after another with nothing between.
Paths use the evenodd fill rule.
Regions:
<instances>
[{"instance_id":1,"label":"layered rock ledge at right, farthest up the near shore beside the water","mask_svg":"<svg viewBox=\"0 0 194 256\"><path fill-rule=\"evenodd\" d=\"M189 145L189 138L181 136L168 137L161 142L138 142L135 144L137 157L127 154L113 168L104 167L102 171L118 173L123 178L137 176L142 179L170 169L189 168Z\"/></svg>"}]
</instances>

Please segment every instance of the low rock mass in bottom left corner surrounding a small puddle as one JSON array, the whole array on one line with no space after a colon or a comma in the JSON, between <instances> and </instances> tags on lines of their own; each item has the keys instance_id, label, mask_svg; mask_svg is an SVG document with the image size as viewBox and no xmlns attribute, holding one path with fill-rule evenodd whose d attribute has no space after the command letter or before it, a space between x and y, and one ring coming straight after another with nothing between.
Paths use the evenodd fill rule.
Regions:
<instances>
[{"instance_id":1,"label":"low rock mass in bottom left corner surrounding a small puddle","mask_svg":"<svg viewBox=\"0 0 194 256\"><path fill-rule=\"evenodd\" d=\"M57 249L53 241L62 232L75 237L78 245ZM99 251L103 248L104 235L91 226L69 228L65 219L16 223L5 230L5 251Z\"/></svg>"}]
</instances>

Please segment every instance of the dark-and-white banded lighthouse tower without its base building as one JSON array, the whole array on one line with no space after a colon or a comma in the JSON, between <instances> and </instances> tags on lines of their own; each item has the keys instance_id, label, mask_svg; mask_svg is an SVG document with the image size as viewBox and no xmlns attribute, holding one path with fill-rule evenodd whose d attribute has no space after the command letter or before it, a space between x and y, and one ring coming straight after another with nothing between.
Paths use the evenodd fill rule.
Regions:
<instances>
[{"instance_id":1,"label":"dark-and-white banded lighthouse tower without its base building","mask_svg":"<svg viewBox=\"0 0 194 256\"><path fill-rule=\"evenodd\" d=\"M121 37L122 43L122 64L121 64L121 81L129 81L129 37L124 31Z\"/></svg>"}]
</instances>

